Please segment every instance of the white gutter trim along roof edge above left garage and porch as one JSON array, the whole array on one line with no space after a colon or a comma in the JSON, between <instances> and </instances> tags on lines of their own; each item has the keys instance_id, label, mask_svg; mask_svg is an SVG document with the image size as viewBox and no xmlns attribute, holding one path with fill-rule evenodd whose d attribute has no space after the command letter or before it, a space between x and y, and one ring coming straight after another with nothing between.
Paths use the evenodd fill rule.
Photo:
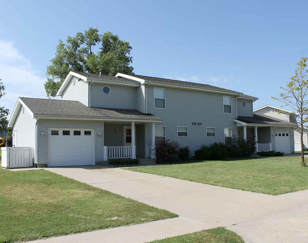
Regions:
<instances>
[{"instance_id":1,"label":"white gutter trim along roof edge above left garage and porch","mask_svg":"<svg viewBox=\"0 0 308 243\"><path fill-rule=\"evenodd\" d=\"M39 119L68 119L68 120L91 120L91 121L142 121L142 122L162 122L161 120L150 120L150 119L132 119L132 118L95 118L95 117L79 117L79 116L48 116L48 115L38 115L35 114L35 117ZM35 118L34 117L34 118Z\"/></svg>"}]
</instances>

